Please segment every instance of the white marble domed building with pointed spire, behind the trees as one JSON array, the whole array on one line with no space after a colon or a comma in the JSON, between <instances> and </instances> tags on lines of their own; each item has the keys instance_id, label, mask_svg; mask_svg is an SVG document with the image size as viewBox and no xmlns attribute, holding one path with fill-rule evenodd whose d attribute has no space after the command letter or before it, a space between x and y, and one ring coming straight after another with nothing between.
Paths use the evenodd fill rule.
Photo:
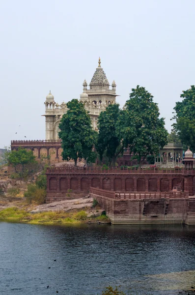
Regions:
<instances>
[{"instance_id":1,"label":"white marble domed building with pointed spire, behind the trees","mask_svg":"<svg viewBox=\"0 0 195 295\"><path fill-rule=\"evenodd\" d=\"M113 81L110 89L109 81L101 67L99 58L98 67L89 83L89 89L87 89L87 83L84 80L83 93L80 95L80 101L84 104L85 110L89 112L94 130L97 130L97 118L99 114L109 104L115 103L116 96L116 83ZM63 114L67 112L66 103L57 104L54 100L54 95L50 91L46 96L45 107L45 115L43 116L46 118L46 140L58 139L58 125Z\"/></svg>"}]
</instances>

